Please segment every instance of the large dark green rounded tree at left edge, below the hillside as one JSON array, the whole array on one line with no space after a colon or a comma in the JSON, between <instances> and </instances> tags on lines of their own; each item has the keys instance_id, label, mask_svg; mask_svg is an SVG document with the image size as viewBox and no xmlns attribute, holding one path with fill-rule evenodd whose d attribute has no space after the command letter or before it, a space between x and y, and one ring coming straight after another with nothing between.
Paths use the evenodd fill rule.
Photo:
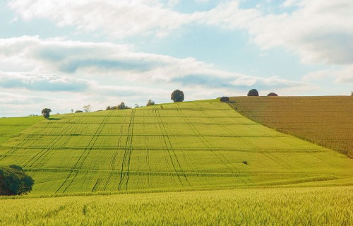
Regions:
<instances>
[{"instance_id":1,"label":"large dark green rounded tree at left edge, below the hillside","mask_svg":"<svg viewBox=\"0 0 353 226\"><path fill-rule=\"evenodd\" d=\"M25 174L22 167L0 167L0 196L27 194L32 191L33 184L34 180Z\"/></svg>"}]
</instances>

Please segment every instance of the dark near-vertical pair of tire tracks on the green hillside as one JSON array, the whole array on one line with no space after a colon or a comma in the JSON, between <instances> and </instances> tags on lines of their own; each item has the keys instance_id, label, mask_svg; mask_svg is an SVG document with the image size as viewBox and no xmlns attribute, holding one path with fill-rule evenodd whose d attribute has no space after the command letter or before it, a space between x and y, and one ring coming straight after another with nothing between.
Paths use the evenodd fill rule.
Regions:
<instances>
[{"instance_id":1,"label":"dark near-vertical pair of tire tracks on the green hillside","mask_svg":"<svg viewBox=\"0 0 353 226\"><path fill-rule=\"evenodd\" d=\"M128 133L126 136L126 142L125 142L125 149L124 149L124 158L123 161L121 162L121 172L120 172L120 181L118 185L118 190L121 191L121 187L123 184L125 184L125 189L127 190L127 184L128 184L128 172L130 170L130 159L131 159L131 152L132 152L132 130L133 130L133 121L135 121L134 116L135 116L135 111L136 109L131 110L130 114L130 122L128 124ZM131 133L131 135L130 135ZM130 145L129 145L130 143ZM127 165L128 170L126 174L124 174L124 167ZM126 182L124 183L124 178L126 177Z\"/></svg>"}]
</instances>

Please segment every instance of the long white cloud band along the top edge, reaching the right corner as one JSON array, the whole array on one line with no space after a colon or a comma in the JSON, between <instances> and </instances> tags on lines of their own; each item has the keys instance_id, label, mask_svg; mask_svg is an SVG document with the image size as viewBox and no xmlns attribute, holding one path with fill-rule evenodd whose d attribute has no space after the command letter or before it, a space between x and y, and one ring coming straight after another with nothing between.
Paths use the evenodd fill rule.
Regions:
<instances>
[{"instance_id":1,"label":"long white cloud band along the top edge, reaching the right corner","mask_svg":"<svg viewBox=\"0 0 353 226\"><path fill-rule=\"evenodd\" d=\"M25 20L47 18L59 26L100 30L112 37L167 35L191 23L224 29L244 29L263 49L285 47L307 64L353 63L353 1L287 0L285 13L265 13L261 7L241 8L223 1L210 11L179 13L158 0L11 0L8 5Z\"/></svg>"}]
</instances>

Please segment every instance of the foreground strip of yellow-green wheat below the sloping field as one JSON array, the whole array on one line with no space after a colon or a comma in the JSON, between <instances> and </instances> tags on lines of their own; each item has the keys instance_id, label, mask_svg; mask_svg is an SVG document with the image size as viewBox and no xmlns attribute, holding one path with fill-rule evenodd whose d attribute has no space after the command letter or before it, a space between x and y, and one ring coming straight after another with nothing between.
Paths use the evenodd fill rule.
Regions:
<instances>
[{"instance_id":1,"label":"foreground strip of yellow-green wheat below the sloping field","mask_svg":"<svg viewBox=\"0 0 353 226\"><path fill-rule=\"evenodd\" d=\"M353 187L1 200L2 225L352 225ZM13 211L16 210L16 211Z\"/></svg>"}]
</instances>

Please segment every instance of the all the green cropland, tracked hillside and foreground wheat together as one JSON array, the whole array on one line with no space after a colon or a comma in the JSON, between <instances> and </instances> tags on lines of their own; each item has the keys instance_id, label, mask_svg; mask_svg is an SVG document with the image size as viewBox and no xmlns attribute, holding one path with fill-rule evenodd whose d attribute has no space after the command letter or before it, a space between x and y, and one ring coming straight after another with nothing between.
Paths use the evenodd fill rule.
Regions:
<instances>
[{"instance_id":1,"label":"all the green cropland, tracked hillside and foreground wheat together","mask_svg":"<svg viewBox=\"0 0 353 226\"><path fill-rule=\"evenodd\" d=\"M293 214L283 221L289 225L323 224L323 219L336 225L353 222L352 210L341 215L339 209L327 207L321 215L315 206L329 205L331 198L337 198L335 205L342 209L351 206L352 159L268 129L225 103L182 102L61 114L50 120L0 119L1 123L23 127L20 132L5 132L1 126L0 133L11 138L0 144L0 165L21 165L35 186L20 200L1 200L1 210L12 206L24 216L4 210L0 224L7 225L8 219L15 217L15 222L22 224L37 215L39 221L34 224L55 225L52 218L59 215L68 225L95 225L106 209L111 211L104 221L107 225L227 225L238 222L239 214L245 220L260 214L249 221L255 225L273 224L281 214ZM318 186L323 188L314 188ZM96 196L102 194L109 196ZM54 196L67 197L40 198ZM313 200L316 196L323 201ZM297 217L296 204L304 205ZM36 208L26 210L25 206L31 205ZM141 212L135 215L129 212L131 208ZM177 208L184 212L173 212ZM210 216L195 213L193 218L188 208ZM247 212L242 213L242 208ZM77 218L68 218L71 209ZM118 209L121 215L111 216ZM280 215L270 215L271 211L280 211ZM161 217L160 213L169 215ZM306 213L312 213L313 219ZM140 218L140 214L146 217Z\"/></svg>"}]
</instances>

